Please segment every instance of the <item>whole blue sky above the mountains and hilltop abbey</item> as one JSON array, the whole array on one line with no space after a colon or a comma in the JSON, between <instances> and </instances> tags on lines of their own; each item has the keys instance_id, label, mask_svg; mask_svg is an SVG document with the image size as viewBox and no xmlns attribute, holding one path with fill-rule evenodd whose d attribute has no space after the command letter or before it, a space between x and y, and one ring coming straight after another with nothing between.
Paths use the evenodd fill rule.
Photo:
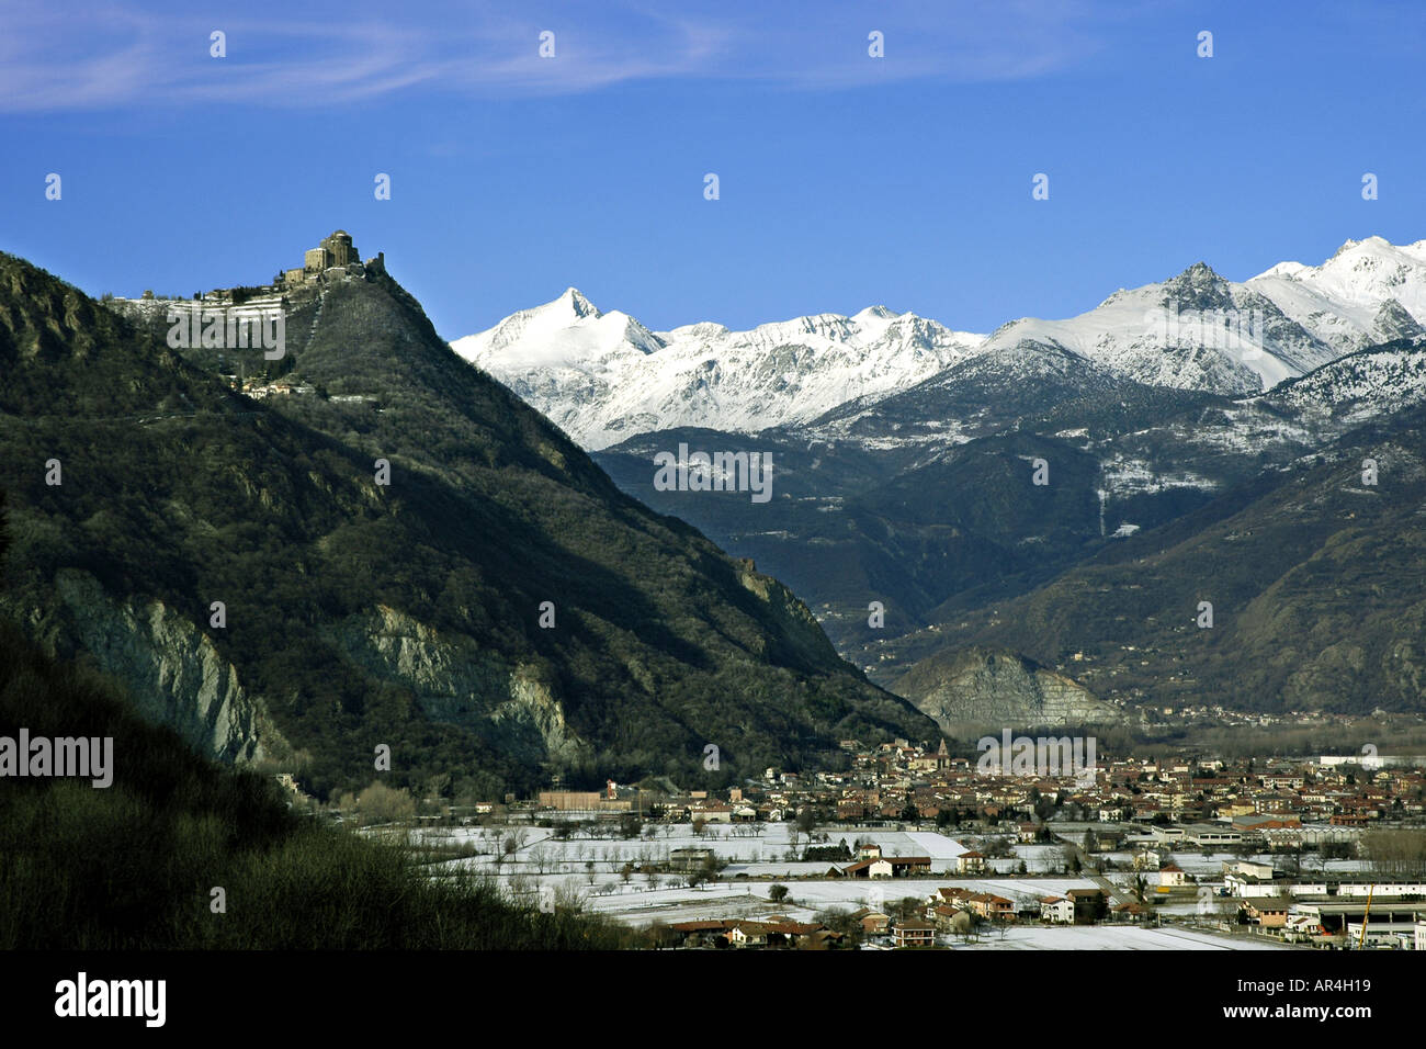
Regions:
<instances>
[{"instance_id":1,"label":"whole blue sky above the mountains and hilltop abbey","mask_svg":"<svg viewBox=\"0 0 1426 1049\"><path fill-rule=\"evenodd\" d=\"M448 338L570 284L655 328L988 331L1426 237L1423 67L1409 1L9 0L0 248L191 294L342 227Z\"/></svg>"}]
</instances>

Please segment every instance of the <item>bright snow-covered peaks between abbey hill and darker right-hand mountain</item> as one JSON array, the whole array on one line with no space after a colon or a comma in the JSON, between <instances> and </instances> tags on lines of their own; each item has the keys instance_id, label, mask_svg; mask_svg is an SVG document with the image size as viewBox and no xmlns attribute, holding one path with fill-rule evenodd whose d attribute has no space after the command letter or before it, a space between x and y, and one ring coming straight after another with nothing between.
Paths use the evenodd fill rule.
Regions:
<instances>
[{"instance_id":1,"label":"bright snow-covered peaks between abbey hill and darker right-hand mountain","mask_svg":"<svg viewBox=\"0 0 1426 1049\"><path fill-rule=\"evenodd\" d=\"M702 321L655 333L570 288L451 345L586 448L603 448L679 425L756 432L809 421L906 390L983 340L884 305L746 331Z\"/></svg>"}]
</instances>

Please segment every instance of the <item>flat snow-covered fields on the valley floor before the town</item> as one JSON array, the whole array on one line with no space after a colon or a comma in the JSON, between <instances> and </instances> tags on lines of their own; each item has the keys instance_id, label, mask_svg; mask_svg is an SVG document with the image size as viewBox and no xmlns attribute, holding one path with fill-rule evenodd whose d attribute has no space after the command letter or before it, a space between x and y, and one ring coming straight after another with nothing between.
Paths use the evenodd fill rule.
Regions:
<instances>
[{"instance_id":1,"label":"flat snow-covered fields on the valley floor before the town","mask_svg":"<svg viewBox=\"0 0 1426 1049\"><path fill-rule=\"evenodd\" d=\"M827 909L854 911L861 906L888 908L910 896L925 901L937 889L958 886L971 892L991 892L1012 899L1017 909L1045 896L1062 896L1070 889L1092 889L1112 885L1117 892L1111 902L1132 899L1135 872L1111 871L1101 881L1088 876L1062 875L1061 843L1014 845L1012 855L990 861L991 871L981 878L960 878L954 873L955 859L980 845L973 836L960 841L928 831L897 831L880 826L829 826L811 839L790 824L709 825L694 833L687 824L646 825L646 833L633 839L590 836L572 832L560 839L553 828L491 826L491 828L432 828L419 835L446 845L469 845L476 855L442 863L445 869L462 868L481 872L498 882L513 898L552 901L579 899L592 912L635 926L655 922L673 923L706 919L763 919L784 916L810 921ZM1077 828L1057 828L1075 841ZM930 856L931 875L925 878L847 879L826 878L833 861L803 862L800 856L809 845L838 845L851 848L858 839L876 842L888 856ZM726 862L719 879L703 885L689 885L683 873L667 869L672 853L683 848L707 848ZM1107 859L1128 865L1131 852L1102 853ZM1168 853L1164 853L1165 858ZM499 856L499 862L496 858ZM1174 852L1174 861L1199 885L1216 889L1222 883L1222 865L1238 859L1229 852L1204 856L1201 852ZM1272 856L1253 856L1269 862ZM1278 858L1279 863L1282 856ZM1024 861L1030 876L1012 875ZM1358 865L1342 861L1328 865L1330 871L1349 871ZM1040 873L1040 876L1035 876ZM1147 872L1148 873L1148 872ZM777 879L777 881L774 881ZM773 885L784 885L787 898L774 903ZM1195 892L1192 886L1186 891ZM1165 916L1191 916L1202 912L1196 899L1184 892L1169 903L1159 901ZM1214 902L1218 902L1215 896ZM1011 926L1004 938L1000 931L983 933L975 943L947 941L955 949L1272 949L1271 942L1246 942L1215 936L1209 932L1176 928L1144 929L1138 926Z\"/></svg>"}]
</instances>

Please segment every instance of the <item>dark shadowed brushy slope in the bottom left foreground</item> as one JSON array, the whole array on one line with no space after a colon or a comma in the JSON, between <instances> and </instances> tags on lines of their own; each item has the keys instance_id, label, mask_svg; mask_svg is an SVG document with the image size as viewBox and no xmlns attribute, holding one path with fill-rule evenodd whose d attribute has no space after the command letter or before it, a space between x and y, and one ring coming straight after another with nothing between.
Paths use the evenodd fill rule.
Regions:
<instances>
[{"instance_id":1,"label":"dark shadowed brushy slope in the bottom left foreground","mask_svg":"<svg viewBox=\"0 0 1426 1049\"><path fill-rule=\"evenodd\" d=\"M292 815L272 781L138 719L0 621L0 735L111 736L114 782L0 786L0 949L612 949L637 933L441 885L402 849ZM225 913L211 889L225 891Z\"/></svg>"}]
</instances>

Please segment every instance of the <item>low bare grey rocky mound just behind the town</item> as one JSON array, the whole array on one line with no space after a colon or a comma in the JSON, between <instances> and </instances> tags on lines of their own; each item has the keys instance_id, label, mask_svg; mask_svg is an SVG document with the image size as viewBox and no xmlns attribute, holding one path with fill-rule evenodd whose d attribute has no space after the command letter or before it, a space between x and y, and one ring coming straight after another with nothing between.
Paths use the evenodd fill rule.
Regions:
<instances>
[{"instance_id":1,"label":"low bare grey rocky mound just behind the town","mask_svg":"<svg viewBox=\"0 0 1426 1049\"><path fill-rule=\"evenodd\" d=\"M1122 712L1070 678L1005 651L968 648L918 664L894 685L945 731L953 725L1101 725Z\"/></svg>"}]
</instances>

